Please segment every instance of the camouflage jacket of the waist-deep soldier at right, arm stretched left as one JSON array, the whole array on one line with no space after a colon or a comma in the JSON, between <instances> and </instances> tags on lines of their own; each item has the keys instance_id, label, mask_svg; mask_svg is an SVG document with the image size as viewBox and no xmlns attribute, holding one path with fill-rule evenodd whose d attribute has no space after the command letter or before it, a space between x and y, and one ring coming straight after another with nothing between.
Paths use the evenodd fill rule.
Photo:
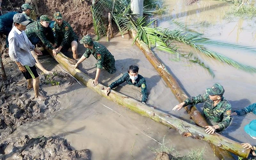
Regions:
<instances>
[{"instance_id":1,"label":"camouflage jacket of the waist-deep soldier at right, arm stretched left","mask_svg":"<svg viewBox=\"0 0 256 160\"><path fill-rule=\"evenodd\" d=\"M199 94L196 97L190 97L186 99L185 106L187 105L196 105L197 103L203 104L203 113L205 118L218 123L220 129L218 131L222 131L223 129L227 128L231 121L231 105L228 102L227 99L225 99L223 96L221 98L221 101L216 105L214 105L213 100L209 98L209 95L205 92L203 94Z\"/></svg>"}]
</instances>

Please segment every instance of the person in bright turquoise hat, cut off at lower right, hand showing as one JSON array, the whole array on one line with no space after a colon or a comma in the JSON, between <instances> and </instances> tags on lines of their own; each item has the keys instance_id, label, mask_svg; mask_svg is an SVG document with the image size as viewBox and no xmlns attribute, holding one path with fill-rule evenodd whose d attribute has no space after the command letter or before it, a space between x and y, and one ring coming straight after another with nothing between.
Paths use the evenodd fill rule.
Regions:
<instances>
[{"instance_id":1,"label":"person in bright turquoise hat, cut off at lower right, hand showing","mask_svg":"<svg viewBox=\"0 0 256 160\"><path fill-rule=\"evenodd\" d=\"M253 120L250 122L250 124L247 124L245 127L244 127L244 131L249 134L253 139L256 139L256 120ZM249 143L241 143L242 146L246 149L251 149L250 153L253 155L253 156L256 156L256 146L252 146L251 144Z\"/></svg>"}]
</instances>

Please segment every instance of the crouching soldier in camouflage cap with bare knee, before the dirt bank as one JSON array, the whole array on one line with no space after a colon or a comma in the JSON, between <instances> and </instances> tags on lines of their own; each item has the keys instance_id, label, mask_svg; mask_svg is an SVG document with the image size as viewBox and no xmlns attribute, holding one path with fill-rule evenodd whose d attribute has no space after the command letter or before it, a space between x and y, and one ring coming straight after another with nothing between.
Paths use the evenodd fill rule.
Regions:
<instances>
[{"instance_id":1,"label":"crouching soldier in camouflage cap with bare knee, before the dirt bank","mask_svg":"<svg viewBox=\"0 0 256 160\"><path fill-rule=\"evenodd\" d=\"M53 14L55 22L53 24L53 33L55 37L55 44L57 45L56 51L59 52L62 48L68 49L68 51L72 50L73 58L77 59L77 42L78 37L76 36L75 32L73 31L72 27L68 22L62 19L62 15L60 12L55 12Z\"/></svg>"}]
</instances>

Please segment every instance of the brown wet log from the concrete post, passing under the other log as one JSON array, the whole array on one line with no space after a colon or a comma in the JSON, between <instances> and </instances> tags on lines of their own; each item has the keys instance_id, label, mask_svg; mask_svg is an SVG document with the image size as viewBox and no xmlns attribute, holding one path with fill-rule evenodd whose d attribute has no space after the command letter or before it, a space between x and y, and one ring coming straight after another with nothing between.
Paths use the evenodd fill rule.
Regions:
<instances>
[{"instance_id":1,"label":"brown wet log from the concrete post, passing under the other log","mask_svg":"<svg viewBox=\"0 0 256 160\"><path fill-rule=\"evenodd\" d=\"M134 38L137 34L136 31L132 30L131 31L131 36ZM151 51L148 46L142 42L140 42L138 39L136 40L136 45L140 48L140 50L144 53L146 58L149 60L149 62L154 66L154 68L157 70L157 72L162 76L164 79L165 83L168 85L168 87L172 90L173 94L176 96L179 102L183 102L188 98L188 95L185 93L185 91L180 87L178 81L172 76L172 74L166 69L164 64L158 60L155 56L155 54ZM174 105L173 105L174 107ZM196 109L195 106L187 106L184 107L185 110L188 112L190 117L193 119L193 121L201 126L207 126L208 123L204 119L204 117L201 115L201 113ZM214 154L219 158L219 159L235 159L228 151L223 150L222 148L215 147L211 143L209 143ZM243 150L240 150L243 152ZM233 153L233 152L232 152ZM249 151L244 152L244 158L246 158L249 155Z\"/></svg>"}]
</instances>

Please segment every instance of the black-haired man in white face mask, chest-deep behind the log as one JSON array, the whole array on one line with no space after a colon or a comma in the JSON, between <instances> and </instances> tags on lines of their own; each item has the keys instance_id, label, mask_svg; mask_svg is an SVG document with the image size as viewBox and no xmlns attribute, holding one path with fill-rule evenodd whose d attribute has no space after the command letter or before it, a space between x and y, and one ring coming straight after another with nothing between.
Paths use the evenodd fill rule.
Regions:
<instances>
[{"instance_id":1,"label":"black-haired man in white face mask, chest-deep behind the log","mask_svg":"<svg viewBox=\"0 0 256 160\"><path fill-rule=\"evenodd\" d=\"M124 83L126 81L127 84L135 85L136 87L141 87L141 102L146 104L147 100L147 85L146 80L143 76L138 74L139 67L135 65L131 65L127 73L125 73L122 77L120 77L115 82L111 83L108 88L104 91L106 96L108 96L108 93L110 92L110 89L117 87L118 85Z\"/></svg>"}]
</instances>

